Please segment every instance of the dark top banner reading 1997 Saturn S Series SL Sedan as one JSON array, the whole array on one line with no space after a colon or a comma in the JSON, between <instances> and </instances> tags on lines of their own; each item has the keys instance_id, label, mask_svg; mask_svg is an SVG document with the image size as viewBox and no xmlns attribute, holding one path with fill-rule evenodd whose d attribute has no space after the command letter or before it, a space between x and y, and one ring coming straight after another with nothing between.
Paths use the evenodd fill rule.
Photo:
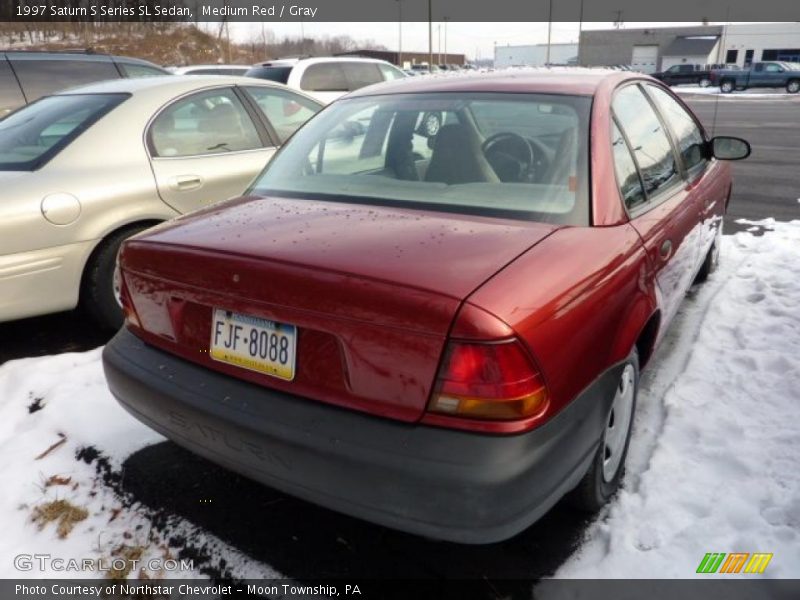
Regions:
<instances>
[{"instance_id":1,"label":"dark top banner reading 1997 Saturn S Series SL Sedan","mask_svg":"<svg viewBox=\"0 0 800 600\"><path fill-rule=\"evenodd\" d=\"M800 21L796 0L0 0L0 21Z\"/></svg>"}]
</instances>

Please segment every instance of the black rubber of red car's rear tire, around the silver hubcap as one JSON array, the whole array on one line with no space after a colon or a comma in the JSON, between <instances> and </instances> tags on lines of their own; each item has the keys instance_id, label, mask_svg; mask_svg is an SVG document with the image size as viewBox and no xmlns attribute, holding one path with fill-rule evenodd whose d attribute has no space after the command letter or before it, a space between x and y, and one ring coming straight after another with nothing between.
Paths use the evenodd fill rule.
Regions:
<instances>
[{"instance_id":1,"label":"black rubber of red car's rear tire, around the silver hubcap","mask_svg":"<svg viewBox=\"0 0 800 600\"><path fill-rule=\"evenodd\" d=\"M629 366L631 367L630 372L628 371ZM639 395L639 353L635 348L631 351L620 370L620 381L614 387L615 397L618 391L622 389L623 378L626 373L632 377L632 381L629 385L633 385L633 399L630 407L627 431L625 432L624 446L621 448L621 455L616 471L610 477L604 473L604 463L608 456L606 435L607 431L611 430L609 425L606 425L603 430L603 437L600 441L600 445L592 460L592 465L589 467L589 470L586 472L586 475L583 476L580 483L567 495L567 501L578 510L585 512L597 512L600 510L600 508L607 504L611 497L617 493L622 478L625 475L625 459L628 456L628 445L631 441L631 431L633 429L633 417L636 414L636 398ZM607 417L608 423L613 423L613 411L614 404L612 401L612 407Z\"/></svg>"}]
</instances>

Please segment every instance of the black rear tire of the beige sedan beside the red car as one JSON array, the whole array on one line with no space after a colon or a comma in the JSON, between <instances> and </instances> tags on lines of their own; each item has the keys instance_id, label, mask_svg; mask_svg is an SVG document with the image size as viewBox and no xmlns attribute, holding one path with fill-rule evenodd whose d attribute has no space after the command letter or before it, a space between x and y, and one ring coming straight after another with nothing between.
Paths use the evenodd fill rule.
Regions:
<instances>
[{"instance_id":1,"label":"black rear tire of the beige sedan beside the red car","mask_svg":"<svg viewBox=\"0 0 800 600\"><path fill-rule=\"evenodd\" d=\"M114 293L114 268L119 247L126 239L147 227L129 227L111 234L95 248L86 264L81 282L81 308L100 327L117 330L122 327L122 307Z\"/></svg>"}]
</instances>

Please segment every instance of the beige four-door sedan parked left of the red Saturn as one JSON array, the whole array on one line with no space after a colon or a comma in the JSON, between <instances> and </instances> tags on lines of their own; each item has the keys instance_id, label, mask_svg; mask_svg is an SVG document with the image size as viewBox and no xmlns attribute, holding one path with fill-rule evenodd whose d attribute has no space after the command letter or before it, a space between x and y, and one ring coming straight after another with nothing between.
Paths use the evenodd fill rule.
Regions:
<instances>
[{"instance_id":1,"label":"beige four-door sedan parked left of the red Saturn","mask_svg":"<svg viewBox=\"0 0 800 600\"><path fill-rule=\"evenodd\" d=\"M243 77L121 79L0 121L0 322L74 308L119 327L123 239L241 194L321 105Z\"/></svg>"}]
</instances>

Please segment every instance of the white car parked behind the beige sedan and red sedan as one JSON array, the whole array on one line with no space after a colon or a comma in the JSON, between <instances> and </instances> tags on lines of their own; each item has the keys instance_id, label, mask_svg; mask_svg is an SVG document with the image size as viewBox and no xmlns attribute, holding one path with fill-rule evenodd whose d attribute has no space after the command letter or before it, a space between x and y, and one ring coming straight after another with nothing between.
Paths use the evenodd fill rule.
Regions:
<instances>
[{"instance_id":1,"label":"white car parked behind the beige sedan and red sedan","mask_svg":"<svg viewBox=\"0 0 800 600\"><path fill-rule=\"evenodd\" d=\"M284 83L326 104L364 86L406 77L384 60L343 56L270 60L246 75Z\"/></svg>"}]
</instances>

